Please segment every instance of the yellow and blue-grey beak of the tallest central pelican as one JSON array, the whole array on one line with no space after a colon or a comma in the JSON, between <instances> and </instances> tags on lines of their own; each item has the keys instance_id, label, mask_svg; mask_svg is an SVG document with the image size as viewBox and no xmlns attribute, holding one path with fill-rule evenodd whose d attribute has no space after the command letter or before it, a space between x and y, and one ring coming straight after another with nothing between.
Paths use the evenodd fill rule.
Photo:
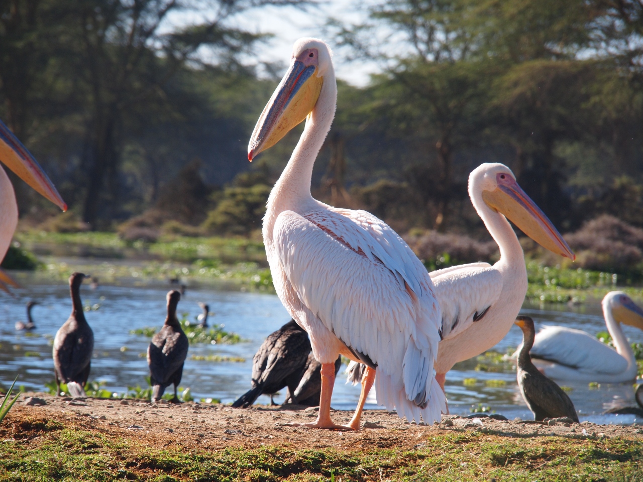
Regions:
<instances>
[{"instance_id":1,"label":"yellow and blue-grey beak of the tallest central pelican","mask_svg":"<svg viewBox=\"0 0 643 482\"><path fill-rule=\"evenodd\" d=\"M323 84L317 69L294 60L255 125L248 143L248 161L275 145L310 114Z\"/></svg>"}]
</instances>

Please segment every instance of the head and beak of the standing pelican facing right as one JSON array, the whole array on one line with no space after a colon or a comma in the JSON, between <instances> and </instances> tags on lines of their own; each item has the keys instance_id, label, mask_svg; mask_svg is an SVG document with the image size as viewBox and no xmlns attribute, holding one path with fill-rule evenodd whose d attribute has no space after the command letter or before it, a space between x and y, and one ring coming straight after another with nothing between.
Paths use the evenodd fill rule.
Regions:
<instances>
[{"instance_id":1,"label":"head and beak of the standing pelican facing right","mask_svg":"<svg viewBox=\"0 0 643 482\"><path fill-rule=\"evenodd\" d=\"M539 245L565 258L576 259L545 213L518 186L516 176L507 166L485 163L473 170L469 175L471 199L477 192L482 193L482 200L489 208L505 215Z\"/></svg>"}]
</instances>

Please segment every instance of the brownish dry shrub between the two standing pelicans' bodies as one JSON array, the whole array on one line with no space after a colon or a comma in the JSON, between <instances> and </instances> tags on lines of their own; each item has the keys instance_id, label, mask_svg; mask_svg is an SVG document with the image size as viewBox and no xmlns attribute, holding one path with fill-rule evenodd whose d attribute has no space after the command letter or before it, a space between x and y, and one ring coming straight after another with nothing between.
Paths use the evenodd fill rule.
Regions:
<instances>
[{"instance_id":1,"label":"brownish dry shrub between the two standing pelicans' bodies","mask_svg":"<svg viewBox=\"0 0 643 482\"><path fill-rule=\"evenodd\" d=\"M497 257L498 245L493 241L481 242L464 235L424 231L408 234L404 240L422 260L435 260L448 253L451 262L475 263Z\"/></svg>"}]
</instances>

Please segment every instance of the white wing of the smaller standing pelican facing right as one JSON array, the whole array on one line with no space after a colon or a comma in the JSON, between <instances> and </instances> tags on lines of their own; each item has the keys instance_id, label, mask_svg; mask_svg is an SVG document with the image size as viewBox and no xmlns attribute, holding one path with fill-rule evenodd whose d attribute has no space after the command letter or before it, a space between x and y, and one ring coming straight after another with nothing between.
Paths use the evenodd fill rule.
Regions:
<instances>
[{"instance_id":1,"label":"white wing of the smaller standing pelican facing right","mask_svg":"<svg viewBox=\"0 0 643 482\"><path fill-rule=\"evenodd\" d=\"M430 276L442 308L440 339L454 337L480 321L502 291L502 276L488 263L453 266Z\"/></svg>"}]
</instances>

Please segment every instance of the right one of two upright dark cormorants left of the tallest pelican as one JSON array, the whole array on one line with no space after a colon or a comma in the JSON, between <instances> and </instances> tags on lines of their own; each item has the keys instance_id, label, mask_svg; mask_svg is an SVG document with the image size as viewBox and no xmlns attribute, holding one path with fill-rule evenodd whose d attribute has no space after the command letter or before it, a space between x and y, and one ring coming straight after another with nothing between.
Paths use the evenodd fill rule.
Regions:
<instances>
[{"instance_id":1,"label":"right one of two upright dark cormorants left of the tallest pelican","mask_svg":"<svg viewBox=\"0 0 643 482\"><path fill-rule=\"evenodd\" d=\"M152 402L163 397L165 388L174 384L174 398L178 402L176 390L181 383L183 363L188 355L188 337L183 333L181 324L176 317L176 307L181 299L177 290L167 294L167 317L163 328L152 337L147 347L147 364L150 367L152 382Z\"/></svg>"}]
</instances>

